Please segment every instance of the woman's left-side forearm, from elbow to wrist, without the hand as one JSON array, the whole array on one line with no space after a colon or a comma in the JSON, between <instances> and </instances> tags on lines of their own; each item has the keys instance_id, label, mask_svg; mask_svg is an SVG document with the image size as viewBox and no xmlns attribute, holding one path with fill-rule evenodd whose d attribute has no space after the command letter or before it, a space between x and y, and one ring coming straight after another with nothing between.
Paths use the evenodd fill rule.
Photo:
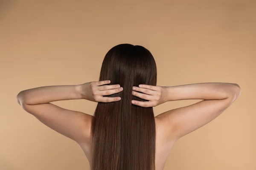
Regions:
<instances>
[{"instance_id":1,"label":"woman's left-side forearm, from elbow to wrist, without the hand","mask_svg":"<svg viewBox=\"0 0 256 170\"><path fill-rule=\"evenodd\" d=\"M58 100L70 99L81 99L78 85L44 86L20 91L20 93L17 95L17 101L20 105L38 105Z\"/></svg>"}]
</instances>

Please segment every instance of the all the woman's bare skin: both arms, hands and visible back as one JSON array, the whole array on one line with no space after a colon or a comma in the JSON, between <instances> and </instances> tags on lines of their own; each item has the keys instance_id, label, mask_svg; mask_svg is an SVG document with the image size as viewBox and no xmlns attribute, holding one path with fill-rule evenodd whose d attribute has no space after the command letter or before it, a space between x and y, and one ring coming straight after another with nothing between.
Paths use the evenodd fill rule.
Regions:
<instances>
[{"instance_id":1,"label":"all the woman's bare skin: both arms, hands and visible back","mask_svg":"<svg viewBox=\"0 0 256 170\"><path fill-rule=\"evenodd\" d=\"M90 163L90 126L93 116L64 109L50 102L70 99L117 102L120 100L118 97L103 97L122 91L120 85L107 85L109 83L105 80L81 85L32 88L20 91L17 102L44 125L76 141ZM142 107L153 107L167 101L182 99L203 99L198 103L175 108L155 117L156 170L163 170L169 152L177 139L219 116L240 96L241 88L234 83L197 83L173 87L142 85L135 87L132 93L134 96L148 100L148 102L134 101L134 105Z\"/></svg>"}]
</instances>

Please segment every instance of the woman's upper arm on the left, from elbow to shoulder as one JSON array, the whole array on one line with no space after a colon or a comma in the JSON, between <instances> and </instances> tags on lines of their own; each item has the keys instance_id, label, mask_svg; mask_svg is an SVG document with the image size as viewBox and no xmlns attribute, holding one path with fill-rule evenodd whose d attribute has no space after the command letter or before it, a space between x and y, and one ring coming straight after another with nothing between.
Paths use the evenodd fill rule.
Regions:
<instances>
[{"instance_id":1,"label":"woman's upper arm on the left, from elbow to shoulder","mask_svg":"<svg viewBox=\"0 0 256 170\"><path fill-rule=\"evenodd\" d=\"M89 114L64 109L52 103L22 104L22 108L44 125L77 143L89 142L90 140L90 126L93 116Z\"/></svg>"}]
</instances>

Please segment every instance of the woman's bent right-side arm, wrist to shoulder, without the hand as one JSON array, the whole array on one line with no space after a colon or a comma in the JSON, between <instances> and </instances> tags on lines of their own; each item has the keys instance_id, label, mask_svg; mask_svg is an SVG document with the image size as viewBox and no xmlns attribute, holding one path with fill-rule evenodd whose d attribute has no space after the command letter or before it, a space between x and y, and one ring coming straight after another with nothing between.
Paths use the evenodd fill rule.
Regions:
<instances>
[{"instance_id":1,"label":"woman's bent right-side arm, wrist to shoulder, without the hand","mask_svg":"<svg viewBox=\"0 0 256 170\"><path fill-rule=\"evenodd\" d=\"M166 140L176 141L211 122L225 111L241 94L235 83L195 83L165 87L168 101L202 99L195 104L175 108L156 116Z\"/></svg>"}]
</instances>

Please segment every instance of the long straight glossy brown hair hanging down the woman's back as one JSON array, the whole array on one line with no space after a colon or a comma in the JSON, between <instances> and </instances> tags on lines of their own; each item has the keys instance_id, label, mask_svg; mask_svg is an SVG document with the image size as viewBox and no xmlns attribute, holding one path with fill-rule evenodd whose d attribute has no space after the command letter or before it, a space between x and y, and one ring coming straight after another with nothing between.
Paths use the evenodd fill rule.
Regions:
<instances>
[{"instance_id":1,"label":"long straight glossy brown hair hanging down the woman's back","mask_svg":"<svg viewBox=\"0 0 256 170\"><path fill-rule=\"evenodd\" d=\"M147 101L132 95L132 87L157 84L157 66L151 52L140 45L119 44L102 62L99 81L111 80L123 91L117 102L99 102L91 135L92 170L155 170L156 125L153 108L133 105Z\"/></svg>"}]
</instances>

